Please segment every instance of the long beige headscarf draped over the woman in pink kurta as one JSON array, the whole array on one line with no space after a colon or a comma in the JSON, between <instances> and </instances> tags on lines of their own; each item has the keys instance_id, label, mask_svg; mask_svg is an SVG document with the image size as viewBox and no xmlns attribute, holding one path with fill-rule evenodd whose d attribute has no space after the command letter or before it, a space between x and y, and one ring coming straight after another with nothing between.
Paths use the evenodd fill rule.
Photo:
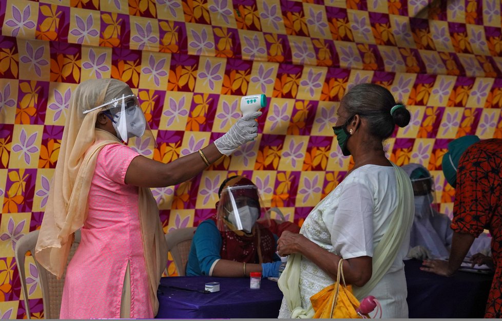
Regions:
<instances>
[{"instance_id":1,"label":"long beige headscarf draped over the woman in pink kurta","mask_svg":"<svg viewBox=\"0 0 502 321\"><path fill-rule=\"evenodd\" d=\"M121 143L114 135L95 128L96 118L102 109L85 115L83 111L123 93L132 93L126 83L116 79L96 79L81 83L72 94L35 247L37 261L58 278L65 271L73 233L83 226L87 218L87 197L98 153L105 145ZM155 315L159 309L157 288L167 262L167 246L159 209L149 188L139 188L138 210L150 282L150 302Z\"/></svg>"}]
</instances>

